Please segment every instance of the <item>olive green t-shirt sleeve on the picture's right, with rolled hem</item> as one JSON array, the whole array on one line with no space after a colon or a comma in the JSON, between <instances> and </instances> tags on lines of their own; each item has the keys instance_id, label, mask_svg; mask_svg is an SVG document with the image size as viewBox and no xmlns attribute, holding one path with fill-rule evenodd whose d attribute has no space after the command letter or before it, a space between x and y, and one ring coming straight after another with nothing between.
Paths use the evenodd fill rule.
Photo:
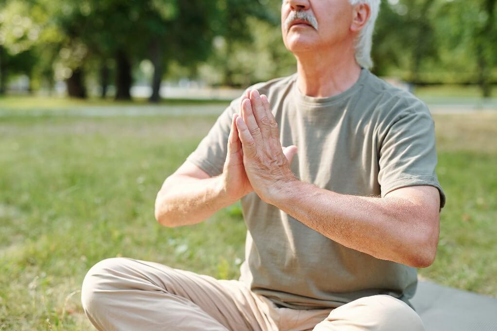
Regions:
<instances>
[{"instance_id":1,"label":"olive green t-shirt sleeve on the picture's right, with rolled hem","mask_svg":"<svg viewBox=\"0 0 497 331\"><path fill-rule=\"evenodd\" d=\"M438 189L442 208L445 194L435 173L435 124L431 114L418 100L400 107L394 111L392 124L380 145L381 196L402 187L430 185Z\"/></svg>"}]
</instances>

